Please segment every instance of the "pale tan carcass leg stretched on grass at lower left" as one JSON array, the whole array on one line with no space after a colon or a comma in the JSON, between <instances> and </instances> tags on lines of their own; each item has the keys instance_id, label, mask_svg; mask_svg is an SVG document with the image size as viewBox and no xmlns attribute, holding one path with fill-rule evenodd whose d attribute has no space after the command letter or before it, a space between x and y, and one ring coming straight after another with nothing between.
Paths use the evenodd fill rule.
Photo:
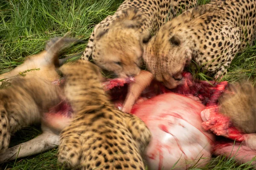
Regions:
<instances>
[{"instance_id":1,"label":"pale tan carcass leg stretched on grass at lower left","mask_svg":"<svg viewBox=\"0 0 256 170\"><path fill-rule=\"evenodd\" d=\"M58 135L49 132L42 133L28 142L18 144L7 149L5 152L0 153L0 163L46 152L58 147L58 144Z\"/></svg>"}]
</instances>

